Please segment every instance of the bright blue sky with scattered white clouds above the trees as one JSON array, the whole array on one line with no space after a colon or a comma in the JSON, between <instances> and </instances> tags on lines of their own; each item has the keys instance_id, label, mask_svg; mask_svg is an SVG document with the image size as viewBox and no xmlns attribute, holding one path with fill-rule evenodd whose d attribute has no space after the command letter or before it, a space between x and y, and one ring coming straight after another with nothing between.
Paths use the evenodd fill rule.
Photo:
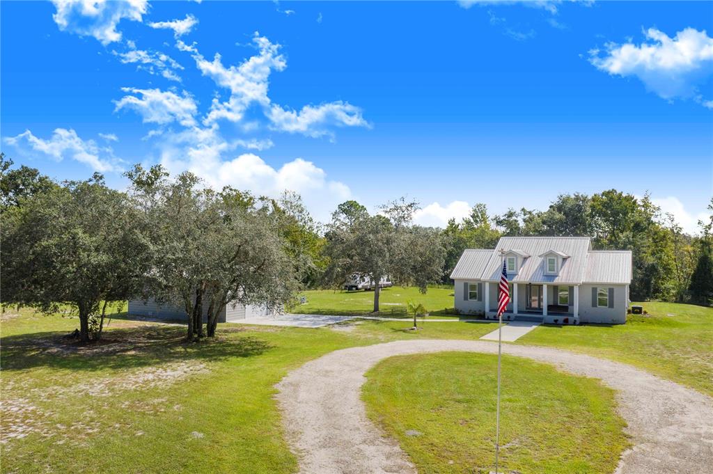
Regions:
<instances>
[{"instance_id":1,"label":"bright blue sky with scattered white clouds above the trees","mask_svg":"<svg viewBox=\"0 0 713 474\"><path fill-rule=\"evenodd\" d=\"M327 220L401 195L649 191L689 231L713 195L713 4L7 2L2 149L56 179L133 163ZM220 56L215 56L219 54Z\"/></svg>"}]
</instances>

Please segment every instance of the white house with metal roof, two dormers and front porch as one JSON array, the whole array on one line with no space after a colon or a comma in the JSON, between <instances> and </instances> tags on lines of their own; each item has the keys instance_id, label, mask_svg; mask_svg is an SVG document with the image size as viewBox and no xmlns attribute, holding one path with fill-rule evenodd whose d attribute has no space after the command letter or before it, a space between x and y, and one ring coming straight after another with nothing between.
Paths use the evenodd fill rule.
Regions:
<instances>
[{"instance_id":1,"label":"white house with metal roof, two dormers and front porch","mask_svg":"<svg viewBox=\"0 0 713 474\"><path fill-rule=\"evenodd\" d=\"M590 237L502 237L495 249L466 249L451 273L455 307L495 316L503 262L511 302L503 319L624 324L629 250L593 250Z\"/></svg>"}]
</instances>

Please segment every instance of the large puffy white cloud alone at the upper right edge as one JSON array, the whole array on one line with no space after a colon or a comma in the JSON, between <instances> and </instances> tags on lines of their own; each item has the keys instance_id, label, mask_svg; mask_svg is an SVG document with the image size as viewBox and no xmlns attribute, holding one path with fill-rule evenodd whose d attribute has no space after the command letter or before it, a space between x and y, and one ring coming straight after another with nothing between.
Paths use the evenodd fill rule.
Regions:
<instances>
[{"instance_id":1,"label":"large puffy white cloud alone at the upper right edge","mask_svg":"<svg viewBox=\"0 0 713 474\"><path fill-rule=\"evenodd\" d=\"M634 76L649 91L667 100L694 98L707 101L697 93L697 86L713 75L713 38L706 31L686 28L670 38L655 28L645 31L650 41L640 45L607 43L601 51L590 51L590 63L612 75Z\"/></svg>"}]
</instances>

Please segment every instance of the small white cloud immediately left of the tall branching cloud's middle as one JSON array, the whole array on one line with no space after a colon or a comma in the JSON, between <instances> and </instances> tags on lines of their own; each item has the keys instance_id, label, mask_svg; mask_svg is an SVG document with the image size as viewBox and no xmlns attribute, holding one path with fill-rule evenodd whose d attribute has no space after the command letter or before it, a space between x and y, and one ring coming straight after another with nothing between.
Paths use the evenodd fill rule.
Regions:
<instances>
[{"instance_id":1,"label":"small white cloud immediately left of the tall branching cloud's middle","mask_svg":"<svg viewBox=\"0 0 713 474\"><path fill-rule=\"evenodd\" d=\"M125 87L124 92L135 96L123 96L116 104L115 110L128 108L142 116L144 123L158 123L165 125L178 122L185 127L195 125L194 115L198 112L198 105L188 92L183 91L183 96L160 89L137 89ZM138 97L140 96L140 97Z\"/></svg>"}]
</instances>

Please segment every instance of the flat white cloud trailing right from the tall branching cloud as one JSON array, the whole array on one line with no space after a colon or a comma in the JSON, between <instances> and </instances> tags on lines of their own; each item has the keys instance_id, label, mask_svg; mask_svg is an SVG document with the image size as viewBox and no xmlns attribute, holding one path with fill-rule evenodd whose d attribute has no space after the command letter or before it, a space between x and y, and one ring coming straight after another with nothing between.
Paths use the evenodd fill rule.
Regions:
<instances>
[{"instance_id":1,"label":"flat white cloud trailing right from the tall branching cloud","mask_svg":"<svg viewBox=\"0 0 713 474\"><path fill-rule=\"evenodd\" d=\"M284 110L273 104L267 114L272 128L289 133L302 133L310 137L331 135L329 125L368 127L361 115L361 108L337 101L321 105L305 105L302 110Z\"/></svg>"}]
</instances>

